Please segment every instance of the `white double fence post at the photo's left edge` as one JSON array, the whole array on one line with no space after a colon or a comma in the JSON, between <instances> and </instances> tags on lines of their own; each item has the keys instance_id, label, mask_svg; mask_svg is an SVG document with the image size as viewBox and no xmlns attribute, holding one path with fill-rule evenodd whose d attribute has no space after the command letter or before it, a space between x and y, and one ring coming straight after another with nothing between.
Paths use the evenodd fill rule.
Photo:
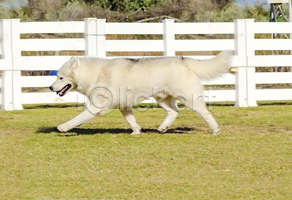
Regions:
<instances>
[{"instance_id":1,"label":"white double fence post at the photo's left edge","mask_svg":"<svg viewBox=\"0 0 292 200\"><path fill-rule=\"evenodd\" d=\"M21 56L19 19L0 20L1 59L10 60L10 70L2 71L1 109L22 110L21 104L21 71L14 70L14 59Z\"/></svg>"}]
</instances>

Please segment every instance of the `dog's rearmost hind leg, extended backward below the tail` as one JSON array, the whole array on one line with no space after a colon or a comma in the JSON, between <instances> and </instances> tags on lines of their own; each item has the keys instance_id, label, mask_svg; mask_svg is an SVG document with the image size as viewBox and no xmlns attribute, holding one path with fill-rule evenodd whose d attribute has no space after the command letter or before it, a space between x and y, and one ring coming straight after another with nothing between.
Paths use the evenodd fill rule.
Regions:
<instances>
[{"instance_id":1,"label":"dog's rearmost hind leg, extended backward below the tail","mask_svg":"<svg viewBox=\"0 0 292 200\"><path fill-rule=\"evenodd\" d=\"M184 100L185 106L198 113L208 123L208 125L212 129L213 135L219 134L219 125L216 122L215 118L207 110L206 104L203 100L203 96L195 97L193 95L192 97L187 97Z\"/></svg>"}]
</instances>

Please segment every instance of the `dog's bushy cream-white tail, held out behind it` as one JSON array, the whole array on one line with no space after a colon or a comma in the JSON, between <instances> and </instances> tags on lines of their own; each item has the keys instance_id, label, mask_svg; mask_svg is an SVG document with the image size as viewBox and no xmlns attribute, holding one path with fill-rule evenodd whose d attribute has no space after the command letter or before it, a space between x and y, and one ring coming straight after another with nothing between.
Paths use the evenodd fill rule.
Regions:
<instances>
[{"instance_id":1,"label":"dog's bushy cream-white tail, held out behind it","mask_svg":"<svg viewBox=\"0 0 292 200\"><path fill-rule=\"evenodd\" d=\"M201 80L218 78L230 71L232 52L232 50L224 50L211 59L192 60L190 67Z\"/></svg>"}]
</instances>

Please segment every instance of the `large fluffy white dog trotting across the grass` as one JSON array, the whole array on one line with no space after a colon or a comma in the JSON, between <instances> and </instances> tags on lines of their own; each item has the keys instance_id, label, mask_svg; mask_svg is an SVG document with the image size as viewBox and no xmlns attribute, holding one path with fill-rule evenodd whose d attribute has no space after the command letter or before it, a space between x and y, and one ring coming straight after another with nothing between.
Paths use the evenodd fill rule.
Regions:
<instances>
[{"instance_id":1,"label":"large fluffy white dog trotting across the grass","mask_svg":"<svg viewBox=\"0 0 292 200\"><path fill-rule=\"evenodd\" d=\"M119 108L133 130L140 134L132 106L154 97L167 111L158 128L164 133L178 116L177 100L203 117L219 134L219 126L206 109L201 80L210 80L229 72L231 51L216 57L195 60L185 57L115 58L72 57L58 71L57 80L50 86L57 95L64 96L71 89L86 95L90 107L57 129L67 132L108 108Z\"/></svg>"}]
</instances>

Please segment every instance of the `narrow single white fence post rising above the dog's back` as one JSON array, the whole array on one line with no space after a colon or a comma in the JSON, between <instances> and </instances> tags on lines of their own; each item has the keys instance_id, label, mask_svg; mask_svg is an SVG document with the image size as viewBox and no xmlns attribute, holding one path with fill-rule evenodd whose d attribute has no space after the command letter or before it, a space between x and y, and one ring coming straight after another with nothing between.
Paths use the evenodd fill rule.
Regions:
<instances>
[{"instance_id":1,"label":"narrow single white fence post rising above the dog's back","mask_svg":"<svg viewBox=\"0 0 292 200\"><path fill-rule=\"evenodd\" d=\"M163 44L164 56L175 56L175 34L174 19L164 19L163 23Z\"/></svg>"}]
</instances>

